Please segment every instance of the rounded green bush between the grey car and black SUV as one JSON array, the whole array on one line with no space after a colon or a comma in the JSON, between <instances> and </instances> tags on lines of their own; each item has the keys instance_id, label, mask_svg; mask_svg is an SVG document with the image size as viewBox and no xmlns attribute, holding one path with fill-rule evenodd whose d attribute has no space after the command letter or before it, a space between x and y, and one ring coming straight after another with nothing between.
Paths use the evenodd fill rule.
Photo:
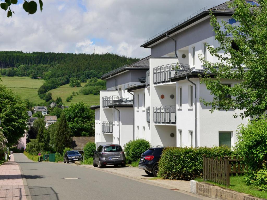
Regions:
<instances>
[{"instance_id":1,"label":"rounded green bush between the grey car and black SUV","mask_svg":"<svg viewBox=\"0 0 267 200\"><path fill-rule=\"evenodd\" d=\"M126 162L132 163L140 159L141 154L151 147L149 141L145 139L136 139L127 142L123 148L126 156Z\"/></svg>"}]
</instances>

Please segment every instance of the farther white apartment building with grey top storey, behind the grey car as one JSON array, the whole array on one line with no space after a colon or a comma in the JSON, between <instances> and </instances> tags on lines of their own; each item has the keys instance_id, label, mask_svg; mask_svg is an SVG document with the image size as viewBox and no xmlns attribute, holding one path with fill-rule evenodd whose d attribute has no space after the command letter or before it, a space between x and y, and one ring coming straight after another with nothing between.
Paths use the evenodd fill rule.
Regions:
<instances>
[{"instance_id":1,"label":"farther white apartment building with grey top storey, behind the grey car","mask_svg":"<svg viewBox=\"0 0 267 200\"><path fill-rule=\"evenodd\" d=\"M145 83L150 56L131 65L124 65L101 79L107 81L107 90L100 91L100 105L95 110L95 142L110 142L123 146L134 139L133 94L127 87Z\"/></svg>"}]
</instances>

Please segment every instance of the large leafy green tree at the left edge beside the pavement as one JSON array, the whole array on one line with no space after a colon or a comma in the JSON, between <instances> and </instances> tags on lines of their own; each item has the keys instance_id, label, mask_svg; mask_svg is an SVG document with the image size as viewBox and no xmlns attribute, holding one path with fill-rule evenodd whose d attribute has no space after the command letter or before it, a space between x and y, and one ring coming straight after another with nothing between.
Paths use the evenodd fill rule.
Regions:
<instances>
[{"instance_id":1,"label":"large leafy green tree at the left edge beside the pavement","mask_svg":"<svg viewBox=\"0 0 267 200\"><path fill-rule=\"evenodd\" d=\"M0 84L0 119L7 145L12 146L25 134L28 113L25 101L3 84Z\"/></svg>"}]
</instances>

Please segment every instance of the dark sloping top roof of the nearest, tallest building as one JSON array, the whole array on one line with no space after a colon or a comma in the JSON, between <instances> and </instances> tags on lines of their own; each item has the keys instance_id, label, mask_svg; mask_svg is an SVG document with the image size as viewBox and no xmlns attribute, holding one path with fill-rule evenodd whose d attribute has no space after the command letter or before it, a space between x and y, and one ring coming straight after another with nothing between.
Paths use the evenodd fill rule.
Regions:
<instances>
[{"instance_id":1,"label":"dark sloping top roof of the nearest, tallest building","mask_svg":"<svg viewBox=\"0 0 267 200\"><path fill-rule=\"evenodd\" d=\"M168 33L168 35L173 34L177 31L179 31L180 29L185 28L186 26L189 26L190 24L206 17L209 15L210 11L213 12L214 15L220 15L220 16L231 16L234 13L234 9L229 9L227 7L228 3L233 2L234 0L231 1L227 1L225 3L222 3L218 6L212 7L210 9L206 9L206 7L204 9L201 9L199 11L197 11L196 13L190 15L190 17L187 17L183 20L181 20L180 22L176 23L175 25L172 25L171 27L161 31L160 33L154 35L153 37L149 38L148 40L144 41L144 44L141 45L141 47L144 48L150 48L149 46L154 44L155 42L158 42L161 39L166 38L166 34Z\"/></svg>"}]
</instances>

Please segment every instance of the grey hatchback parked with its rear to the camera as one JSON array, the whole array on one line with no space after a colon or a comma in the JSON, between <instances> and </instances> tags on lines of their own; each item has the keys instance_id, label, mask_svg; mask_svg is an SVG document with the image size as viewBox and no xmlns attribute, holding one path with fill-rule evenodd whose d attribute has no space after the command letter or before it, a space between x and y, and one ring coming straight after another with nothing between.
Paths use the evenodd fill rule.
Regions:
<instances>
[{"instance_id":1,"label":"grey hatchback parked with its rear to the camera","mask_svg":"<svg viewBox=\"0 0 267 200\"><path fill-rule=\"evenodd\" d=\"M100 145L93 157L93 166L103 168L106 165L125 167L126 158L120 145Z\"/></svg>"}]
</instances>

